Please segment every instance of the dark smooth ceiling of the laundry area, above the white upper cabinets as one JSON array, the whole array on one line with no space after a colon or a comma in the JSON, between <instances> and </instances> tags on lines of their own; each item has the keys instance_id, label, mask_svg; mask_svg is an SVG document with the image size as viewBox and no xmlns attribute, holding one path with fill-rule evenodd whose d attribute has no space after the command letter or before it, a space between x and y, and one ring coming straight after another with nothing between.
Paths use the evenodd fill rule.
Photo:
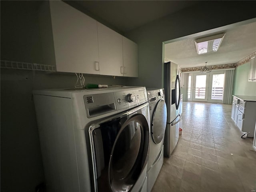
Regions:
<instances>
[{"instance_id":1,"label":"dark smooth ceiling of the laundry area, above the white upper cabinets","mask_svg":"<svg viewBox=\"0 0 256 192\"><path fill-rule=\"evenodd\" d=\"M121 32L198 3L183 0L72 0L70 3L74 2Z\"/></svg>"}]
</instances>

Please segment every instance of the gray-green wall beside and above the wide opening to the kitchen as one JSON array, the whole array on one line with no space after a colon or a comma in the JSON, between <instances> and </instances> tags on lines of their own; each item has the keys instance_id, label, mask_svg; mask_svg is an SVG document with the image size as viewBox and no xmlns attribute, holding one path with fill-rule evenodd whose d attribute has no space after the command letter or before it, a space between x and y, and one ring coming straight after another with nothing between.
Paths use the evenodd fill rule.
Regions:
<instances>
[{"instance_id":1,"label":"gray-green wall beside and above the wide opening to the kitchen","mask_svg":"<svg viewBox=\"0 0 256 192\"><path fill-rule=\"evenodd\" d=\"M162 42L256 18L255 6L255 1L201 1L126 32L124 35L138 44L138 82L145 86L163 87Z\"/></svg>"}]
</instances>

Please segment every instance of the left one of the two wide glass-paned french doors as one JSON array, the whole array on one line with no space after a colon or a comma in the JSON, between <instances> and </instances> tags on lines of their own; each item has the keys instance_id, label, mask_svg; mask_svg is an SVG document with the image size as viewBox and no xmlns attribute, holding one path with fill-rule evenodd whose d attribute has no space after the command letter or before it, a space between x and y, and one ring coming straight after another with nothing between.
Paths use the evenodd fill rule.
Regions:
<instances>
[{"instance_id":1,"label":"left one of the two wide glass-paned french doors","mask_svg":"<svg viewBox=\"0 0 256 192\"><path fill-rule=\"evenodd\" d=\"M193 101L207 101L207 74L194 74Z\"/></svg>"}]
</instances>

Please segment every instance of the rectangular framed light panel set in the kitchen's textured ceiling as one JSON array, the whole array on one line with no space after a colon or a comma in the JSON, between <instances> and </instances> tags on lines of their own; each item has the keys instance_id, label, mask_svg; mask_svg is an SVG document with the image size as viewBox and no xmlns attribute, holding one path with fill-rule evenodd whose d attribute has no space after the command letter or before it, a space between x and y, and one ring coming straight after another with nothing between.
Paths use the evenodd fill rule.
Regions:
<instances>
[{"instance_id":1,"label":"rectangular framed light panel set in the kitchen's textured ceiling","mask_svg":"<svg viewBox=\"0 0 256 192\"><path fill-rule=\"evenodd\" d=\"M220 47L225 34L217 34L209 37L204 37L195 40L196 52L200 54L216 52Z\"/></svg>"}]
</instances>

